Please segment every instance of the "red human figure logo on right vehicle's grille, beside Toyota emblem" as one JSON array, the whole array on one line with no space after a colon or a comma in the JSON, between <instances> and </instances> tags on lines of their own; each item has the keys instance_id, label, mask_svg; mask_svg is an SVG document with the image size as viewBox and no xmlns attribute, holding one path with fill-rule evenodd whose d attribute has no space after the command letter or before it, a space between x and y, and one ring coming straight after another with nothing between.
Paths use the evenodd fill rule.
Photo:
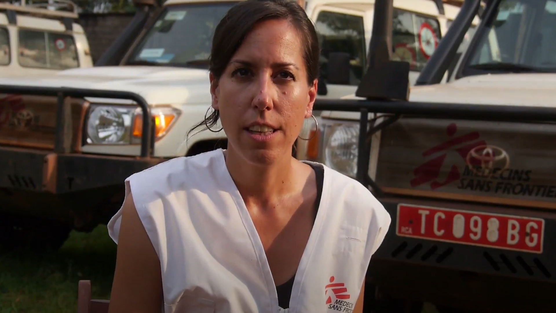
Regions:
<instances>
[{"instance_id":1,"label":"red human figure logo on right vehicle's grille, beside Toyota emblem","mask_svg":"<svg viewBox=\"0 0 556 313\"><path fill-rule=\"evenodd\" d=\"M434 190L461 178L461 174L458 167L456 167L456 165L452 165L450 168L450 172L448 173L448 177L446 177L446 179L442 182L438 181L438 178L440 176L440 170L442 168L442 165L444 165L444 160L446 159L446 156L448 155L446 150L449 150L454 146L461 145L459 148L456 148L455 151L465 161L467 155L469 154L469 151L471 151L476 146L486 145L486 142L484 140L479 140L470 143L471 141L479 139L480 135L477 131L473 131L465 135L453 137L457 130L458 130L458 126L455 123L451 123L450 125L448 125L448 127L446 127L446 134L448 135L448 137L452 137L452 138L444 141L439 145L433 146L433 148L430 148L429 150L426 150L423 153L423 156L426 158L427 156L435 155L444 151L444 153L439 154L435 158L426 161L425 163L419 165L413 170L413 174L415 177L411 179L409 182L411 184L411 187L418 187L422 184L430 183L430 189ZM476 163L477 160L473 160L472 162ZM480 164L468 164L468 165L480 165Z\"/></svg>"}]
</instances>

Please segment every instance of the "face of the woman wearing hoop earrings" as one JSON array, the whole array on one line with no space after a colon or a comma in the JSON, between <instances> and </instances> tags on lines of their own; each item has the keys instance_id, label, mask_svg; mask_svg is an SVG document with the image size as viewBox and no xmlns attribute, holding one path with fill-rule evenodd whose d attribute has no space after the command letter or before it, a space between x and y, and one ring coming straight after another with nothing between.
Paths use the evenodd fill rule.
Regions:
<instances>
[{"instance_id":1,"label":"face of the woman wearing hoop earrings","mask_svg":"<svg viewBox=\"0 0 556 313\"><path fill-rule=\"evenodd\" d=\"M264 21L247 35L220 80L211 75L212 107L220 110L229 153L260 165L291 156L316 97L316 80L307 84L303 47L290 22Z\"/></svg>"}]
</instances>

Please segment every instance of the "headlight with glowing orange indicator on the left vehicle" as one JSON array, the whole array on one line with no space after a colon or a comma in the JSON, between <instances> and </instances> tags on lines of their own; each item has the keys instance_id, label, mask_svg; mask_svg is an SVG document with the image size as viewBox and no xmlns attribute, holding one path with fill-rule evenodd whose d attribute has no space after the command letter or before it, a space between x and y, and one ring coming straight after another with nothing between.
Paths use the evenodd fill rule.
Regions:
<instances>
[{"instance_id":1,"label":"headlight with glowing orange indicator on the left vehicle","mask_svg":"<svg viewBox=\"0 0 556 313\"><path fill-rule=\"evenodd\" d=\"M180 116L173 107L153 107L155 140L168 133ZM91 105L87 118L87 144L141 143L143 115L138 106Z\"/></svg>"}]
</instances>

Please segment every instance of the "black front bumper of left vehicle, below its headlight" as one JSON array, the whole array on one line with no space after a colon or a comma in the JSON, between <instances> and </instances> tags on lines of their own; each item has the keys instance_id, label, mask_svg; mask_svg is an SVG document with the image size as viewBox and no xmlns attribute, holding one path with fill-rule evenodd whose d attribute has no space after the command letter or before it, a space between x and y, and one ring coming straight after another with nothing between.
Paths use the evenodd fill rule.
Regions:
<instances>
[{"instance_id":1,"label":"black front bumper of left vehicle, below its headlight","mask_svg":"<svg viewBox=\"0 0 556 313\"><path fill-rule=\"evenodd\" d=\"M0 146L0 188L64 194L121 185L130 175L165 160Z\"/></svg>"}]
</instances>

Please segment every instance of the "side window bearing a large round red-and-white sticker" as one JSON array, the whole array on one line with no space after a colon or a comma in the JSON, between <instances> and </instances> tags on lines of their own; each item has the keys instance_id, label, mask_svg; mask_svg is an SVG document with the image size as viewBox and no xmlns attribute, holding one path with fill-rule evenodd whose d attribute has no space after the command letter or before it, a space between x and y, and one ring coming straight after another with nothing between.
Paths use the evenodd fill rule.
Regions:
<instances>
[{"instance_id":1,"label":"side window bearing a large round red-and-white sticker","mask_svg":"<svg viewBox=\"0 0 556 313\"><path fill-rule=\"evenodd\" d=\"M440 42L440 23L434 17L394 8L393 59L406 61L412 71L421 71Z\"/></svg>"}]
</instances>

